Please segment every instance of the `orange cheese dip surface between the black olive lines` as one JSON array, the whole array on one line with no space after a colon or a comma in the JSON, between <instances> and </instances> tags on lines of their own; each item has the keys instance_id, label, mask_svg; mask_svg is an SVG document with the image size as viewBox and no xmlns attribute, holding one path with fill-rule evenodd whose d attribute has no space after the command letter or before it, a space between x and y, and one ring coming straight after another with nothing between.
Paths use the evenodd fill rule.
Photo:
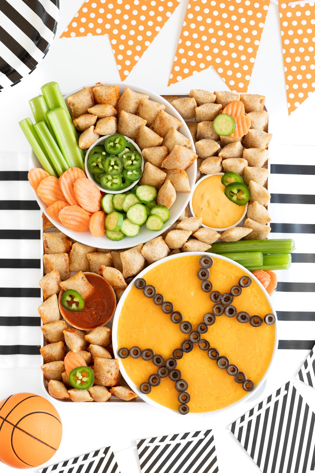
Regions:
<instances>
[{"instance_id":1,"label":"orange cheese dip surface between the black olive lines","mask_svg":"<svg viewBox=\"0 0 315 473\"><path fill-rule=\"evenodd\" d=\"M183 320L191 322L193 330L204 321L204 315L211 312L213 307L209 293L201 289L201 281L197 278L199 258L188 255L170 259L143 276L147 284L152 284L164 296L165 301L174 304L174 310L183 314ZM219 290L221 294L230 292L231 287L246 275L245 270L230 261L216 257L213 257L213 261L209 280L213 283L213 290ZM242 289L241 295L234 298L233 305L238 312L246 311L249 315L260 315L262 318L272 312L255 281L250 287ZM274 325L263 323L260 327L252 327L249 323L239 323L236 317L221 315L201 338L208 340L211 348L217 348L221 356L227 356L230 364L237 365L239 371L244 371L256 385L271 361L274 332ZM155 354L162 355L164 360L172 357L173 350L180 348L181 343L188 338L179 330L179 324L170 321L170 315L164 314L160 306L156 306L152 299L146 298L143 291L135 286L122 307L117 333L119 348L151 348ZM151 360L145 361L141 357L133 359L129 356L121 359L121 362L137 386L147 381L158 369ZM190 353L184 353L183 358L177 361L177 369L188 383L190 412L215 411L247 394L242 385L234 381L234 377L208 357L207 351L199 349L197 343ZM178 410L178 394L174 382L167 377L161 379L160 385L152 387L148 396L165 407Z\"/></svg>"}]
</instances>

